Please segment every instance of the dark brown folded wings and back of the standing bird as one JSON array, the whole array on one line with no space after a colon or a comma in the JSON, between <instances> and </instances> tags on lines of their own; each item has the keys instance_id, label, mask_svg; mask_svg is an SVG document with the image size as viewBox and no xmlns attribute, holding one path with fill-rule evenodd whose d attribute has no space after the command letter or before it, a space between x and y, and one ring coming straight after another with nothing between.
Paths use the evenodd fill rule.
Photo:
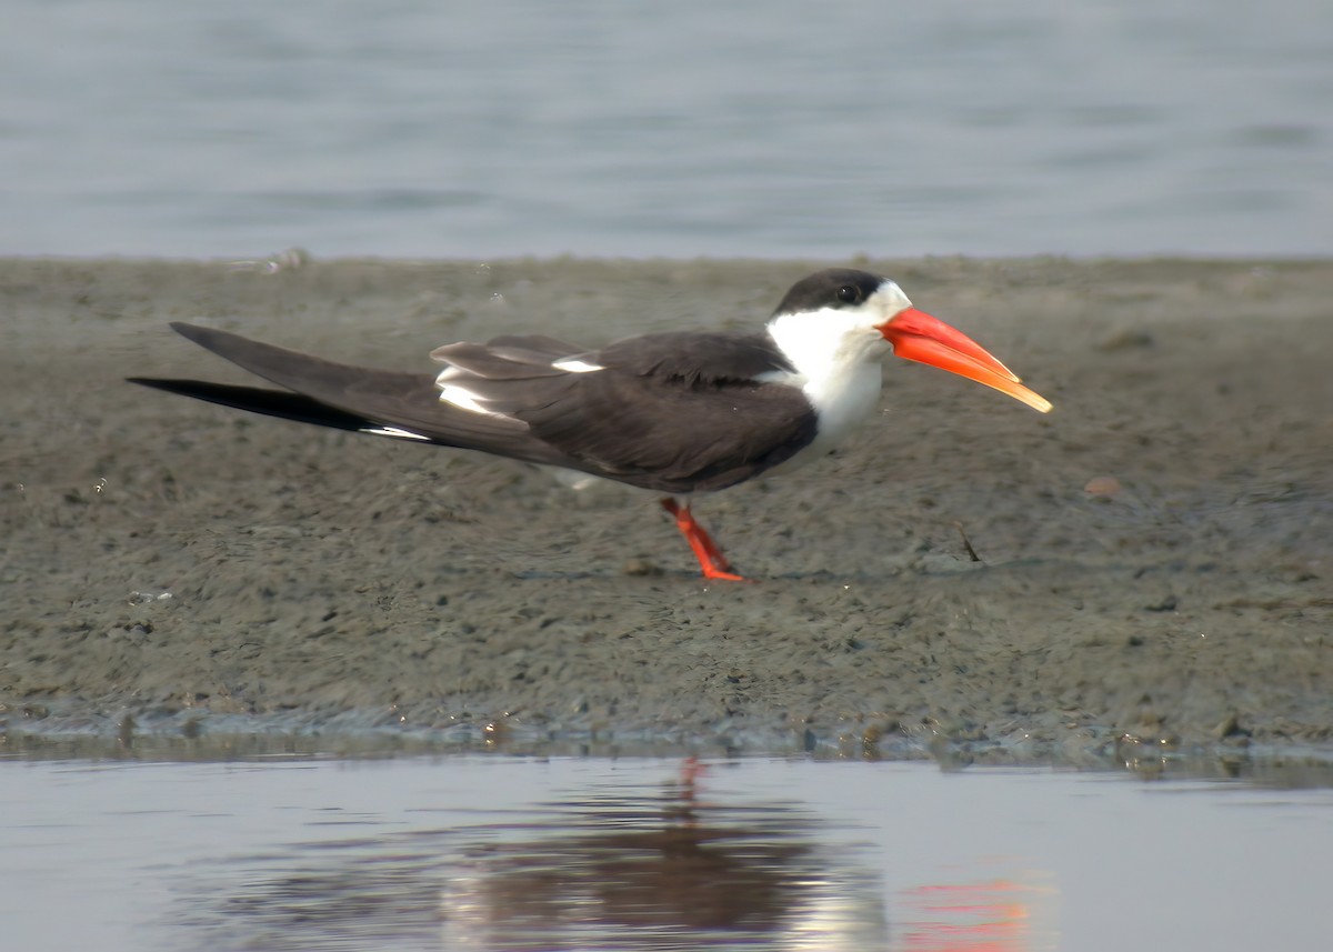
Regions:
<instances>
[{"instance_id":1,"label":"dark brown folded wings and back of the standing bird","mask_svg":"<svg viewBox=\"0 0 1333 952\"><path fill-rule=\"evenodd\" d=\"M176 323L196 344L283 387L135 383L303 423L479 449L659 492L721 489L806 445L813 409L756 377L786 368L760 337L669 333L585 351L541 335L449 344L437 375L339 364Z\"/></svg>"}]
</instances>

